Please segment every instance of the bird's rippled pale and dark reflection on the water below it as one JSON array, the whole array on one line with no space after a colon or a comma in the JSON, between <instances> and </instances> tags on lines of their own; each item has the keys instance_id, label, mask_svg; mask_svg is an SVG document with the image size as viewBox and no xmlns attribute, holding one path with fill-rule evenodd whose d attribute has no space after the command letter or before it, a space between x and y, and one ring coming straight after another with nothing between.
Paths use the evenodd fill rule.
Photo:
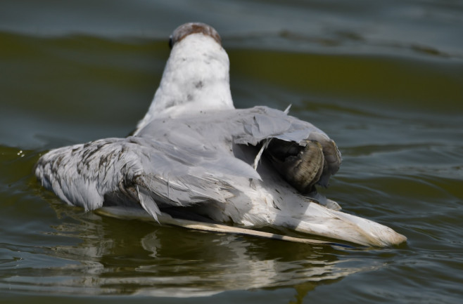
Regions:
<instances>
[{"instance_id":1,"label":"bird's rippled pale and dark reflection on the water below it","mask_svg":"<svg viewBox=\"0 0 463 304\"><path fill-rule=\"evenodd\" d=\"M79 243L23 248L43 256L44 262L62 262L31 272L16 260L15 276L1 278L4 288L186 297L293 286L298 293L307 293L319 283L380 267L339 260L343 253L326 246L158 227L101 218L61 204L53 207L73 220L54 226L51 235L77 238Z\"/></svg>"}]
</instances>

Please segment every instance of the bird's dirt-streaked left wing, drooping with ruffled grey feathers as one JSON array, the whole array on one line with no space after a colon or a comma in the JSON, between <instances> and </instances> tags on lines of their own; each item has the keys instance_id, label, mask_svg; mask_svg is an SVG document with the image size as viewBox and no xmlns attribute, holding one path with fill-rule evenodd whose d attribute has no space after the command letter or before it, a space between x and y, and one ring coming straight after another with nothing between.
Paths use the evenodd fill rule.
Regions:
<instances>
[{"instance_id":1,"label":"bird's dirt-streaked left wing, drooping with ruffled grey feathers","mask_svg":"<svg viewBox=\"0 0 463 304\"><path fill-rule=\"evenodd\" d=\"M233 189L228 181L236 174L260 178L243 161L202 146L182 148L139 137L51 150L39 159L35 173L68 204L94 210L106 199L136 202L154 218L165 205L225 201Z\"/></svg>"}]
</instances>

